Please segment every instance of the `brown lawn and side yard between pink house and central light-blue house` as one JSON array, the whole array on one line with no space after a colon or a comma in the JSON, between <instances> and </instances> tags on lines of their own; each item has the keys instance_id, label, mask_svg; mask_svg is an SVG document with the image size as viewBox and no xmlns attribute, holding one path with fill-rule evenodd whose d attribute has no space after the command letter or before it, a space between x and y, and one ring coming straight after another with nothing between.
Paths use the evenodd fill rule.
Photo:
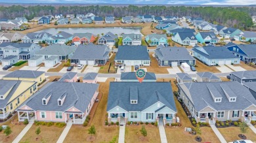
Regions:
<instances>
[{"instance_id":1,"label":"brown lawn and side yard between pink house and central light-blue house","mask_svg":"<svg viewBox=\"0 0 256 143\"><path fill-rule=\"evenodd\" d=\"M88 129L91 125L95 125L96 129L94 142L110 142L115 136L118 140L119 127L116 125L110 127L104 125L109 84L110 82L114 82L114 80L115 78L108 78L106 82L100 83L99 91L102 93L102 98L98 103L94 116L91 117L91 122L89 122L87 127L83 127L82 125L72 125L64 142L86 142L87 138L90 136L88 134Z\"/></svg>"}]
</instances>

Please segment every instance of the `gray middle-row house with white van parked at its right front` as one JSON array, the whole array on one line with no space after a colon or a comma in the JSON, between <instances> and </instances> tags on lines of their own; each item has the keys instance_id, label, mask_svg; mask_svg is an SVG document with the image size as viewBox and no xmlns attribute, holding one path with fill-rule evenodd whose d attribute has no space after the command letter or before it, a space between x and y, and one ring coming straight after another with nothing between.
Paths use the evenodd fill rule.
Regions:
<instances>
[{"instance_id":1,"label":"gray middle-row house with white van parked at its right front","mask_svg":"<svg viewBox=\"0 0 256 143\"><path fill-rule=\"evenodd\" d=\"M155 57L160 66L177 67L181 63L196 65L196 59L192 57L188 50L183 47L160 47L155 50Z\"/></svg>"}]
</instances>

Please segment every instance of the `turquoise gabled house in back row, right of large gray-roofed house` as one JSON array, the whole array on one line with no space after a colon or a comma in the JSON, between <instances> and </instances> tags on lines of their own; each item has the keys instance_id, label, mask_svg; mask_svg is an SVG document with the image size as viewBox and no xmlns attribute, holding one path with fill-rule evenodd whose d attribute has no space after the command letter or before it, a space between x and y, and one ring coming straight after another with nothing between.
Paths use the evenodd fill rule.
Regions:
<instances>
[{"instance_id":1,"label":"turquoise gabled house in back row, right of large gray-roofed house","mask_svg":"<svg viewBox=\"0 0 256 143\"><path fill-rule=\"evenodd\" d=\"M196 39L201 44L216 44L219 41L214 32L199 32L196 34Z\"/></svg>"}]
</instances>

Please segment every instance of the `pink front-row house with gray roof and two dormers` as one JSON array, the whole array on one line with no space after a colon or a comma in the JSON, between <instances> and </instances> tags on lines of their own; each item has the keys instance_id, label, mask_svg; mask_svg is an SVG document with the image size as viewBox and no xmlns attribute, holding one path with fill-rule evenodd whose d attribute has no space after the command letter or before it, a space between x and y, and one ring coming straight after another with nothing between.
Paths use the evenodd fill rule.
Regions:
<instances>
[{"instance_id":1,"label":"pink front-row house with gray roof and two dormers","mask_svg":"<svg viewBox=\"0 0 256 143\"><path fill-rule=\"evenodd\" d=\"M98 96L98 84L50 82L17 109L18 121L83 124Z\"/></svg>"}]
</instances>

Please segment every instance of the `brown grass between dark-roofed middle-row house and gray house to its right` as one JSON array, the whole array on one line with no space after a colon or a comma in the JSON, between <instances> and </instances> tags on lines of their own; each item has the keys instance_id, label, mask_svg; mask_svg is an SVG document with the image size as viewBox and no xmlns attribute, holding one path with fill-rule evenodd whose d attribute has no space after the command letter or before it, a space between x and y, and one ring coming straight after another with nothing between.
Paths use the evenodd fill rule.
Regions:
<instances>
[{"instance_id":1,"label":"brown grass between dark-roofed middle-row house and gray house to its right","mask_svg":"<svg viewBox=\"0 0 256 143\"><path fill-rule=\"evenodd\" d=\"M160 67L158 65L158 61L156 60L155 57L152 56L154 54L153 52L150 52L150 60L151 60L151 65L149 67L146 67L146 70L148 72L154 72L155 74L169 74L167 69L171 69L171 67Z\"/></svg>"}]
</instances>

